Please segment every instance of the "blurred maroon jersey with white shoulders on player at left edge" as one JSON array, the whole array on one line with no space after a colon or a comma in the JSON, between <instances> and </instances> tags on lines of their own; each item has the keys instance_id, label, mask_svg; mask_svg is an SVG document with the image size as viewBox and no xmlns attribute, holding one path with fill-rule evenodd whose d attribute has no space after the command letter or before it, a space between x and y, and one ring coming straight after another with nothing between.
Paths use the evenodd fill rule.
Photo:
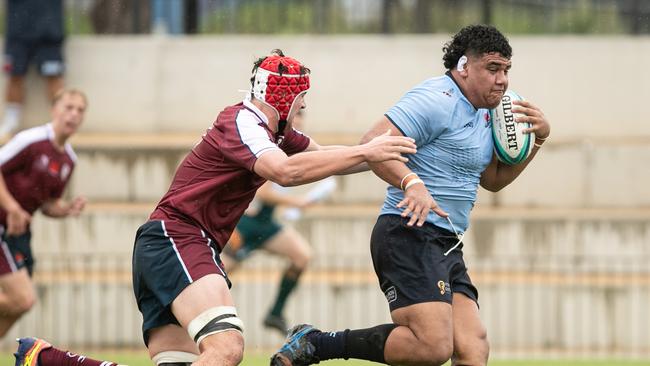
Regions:
<instances>
[{"instance_id":1,"label":"blurred maroon jersey with white shoulders on player at left edge","mask_svg":"<svg viewBox=\"0 0 650 366\"><path fill-rule=\"evenodd\" d=\"M22 131L0 148L0 169L9 193L33 214L49 200L60 198L77 156L70 144L63 151L52 141L54 130L46 124ZM0 209L0 225L7 212Z\"/></svg>"}]
</instances>

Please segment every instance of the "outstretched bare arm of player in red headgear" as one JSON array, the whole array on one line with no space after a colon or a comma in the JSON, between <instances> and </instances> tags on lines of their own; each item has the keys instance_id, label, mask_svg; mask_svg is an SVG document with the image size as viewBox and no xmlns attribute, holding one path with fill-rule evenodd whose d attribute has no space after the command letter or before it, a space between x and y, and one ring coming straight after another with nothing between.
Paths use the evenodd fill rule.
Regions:
<instances>
[{"instance_id":1,"label":"outstretched bare arm of player in red headgear","mask_svg":"<svg viewBox=\"0 0 650 366\"><path fill-rule=\"evenodd\" d=\"M365 144L341 149L307 151L290 157L281 150L269 151L257 159L253 170L280 185L295 186L339 174L363 162L406 162L402 154L415 152L413 139L385 131Z\"/></svg>"}]
</instances>

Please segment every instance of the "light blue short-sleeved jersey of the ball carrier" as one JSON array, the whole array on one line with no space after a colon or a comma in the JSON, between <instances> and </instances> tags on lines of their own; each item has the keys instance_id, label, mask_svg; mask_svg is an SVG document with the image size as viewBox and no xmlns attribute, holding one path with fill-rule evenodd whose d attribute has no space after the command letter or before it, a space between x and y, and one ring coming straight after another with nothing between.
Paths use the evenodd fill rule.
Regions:
<instances>
[{"instance_id":1,"label":"light blue short-sleeved jersey of the ball carrier","mask_svg":"<svg viewBox=\"0 0 650 366\"><path fill-rule=\"evenodd\" d=\"M406 164L425 182L458 231L469 226L481 173L492 160L487 109L475 109L451 76L424 81L408 91L386 117L415 139L418 151ZM381 214L401 214L404 192L388 187ZM446 219L429 213L427 221L451 232Z\"/></svg>"}]
</instances>

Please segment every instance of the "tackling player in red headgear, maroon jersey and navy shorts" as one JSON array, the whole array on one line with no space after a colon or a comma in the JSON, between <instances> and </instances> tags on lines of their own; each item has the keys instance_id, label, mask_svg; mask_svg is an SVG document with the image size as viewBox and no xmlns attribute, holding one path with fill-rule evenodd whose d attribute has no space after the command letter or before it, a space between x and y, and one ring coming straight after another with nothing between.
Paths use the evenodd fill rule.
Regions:
<instances>
[{"instance_id":1,"label":"tackling player in red headgear, maroon jersey and navy shorts","mask_svg":"<svg viewBox=\"0 0 650 366\"><path fill-rule=\"evenodd\" d=\"M133 286L156 365L241 361L243 324L219 253L267 179L304 184L415 152L411 139L388 134L325 147L294 130L309 69L279 50L255 63L251 83L246 100L224 109L187 155L136 235Z\"/></svg>"}]
</instances>

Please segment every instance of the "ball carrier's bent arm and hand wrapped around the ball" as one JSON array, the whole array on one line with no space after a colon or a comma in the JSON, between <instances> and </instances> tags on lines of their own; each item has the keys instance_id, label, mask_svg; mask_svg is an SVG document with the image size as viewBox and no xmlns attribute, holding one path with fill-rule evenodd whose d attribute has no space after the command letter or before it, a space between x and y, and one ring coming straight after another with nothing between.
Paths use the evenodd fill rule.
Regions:
<instances>
[{"instance_id":1,"label":"ball carrier's bent arm and hand wrapped around the ball","mask_svg":"<svg viewBox=\"0 0 650 366\"><path fill-rule=\"evenodd\" d=\"M517 100L514 103L516 106L512 111L514 113L524 114L523 117L518 117L516 121L531 124L531 127L526 132L535 134L535 146L533 146L533 151L528 158L519 164L508 165L500 162L496 156L492 157L492 162L481 174L481 187L490 192L498 192L517 179L519 174L524 171L535 155L537 155L542 144L544 144L551 133L551 125L548 123L541 109L526 100Z\"/></svg>"}]
</instances>

